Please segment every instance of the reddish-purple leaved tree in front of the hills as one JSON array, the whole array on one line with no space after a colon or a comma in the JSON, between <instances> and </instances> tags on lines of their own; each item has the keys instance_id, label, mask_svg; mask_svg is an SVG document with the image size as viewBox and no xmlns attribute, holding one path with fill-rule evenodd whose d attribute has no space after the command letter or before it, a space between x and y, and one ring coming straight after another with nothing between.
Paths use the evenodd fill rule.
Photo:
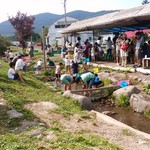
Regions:
<instances>
[{"instance_id":1,"label":"reddish-purple leaved tree in front of the hills","mask_svg":"<svg viewBox=\"0 0 150 150\"><path fill-rule=\"evenodd\" d=\"M9 22L16 30L16 35L23 50L26 48L26 40L33 34L33 23L35 18L33 16L27 16L27 14L17 12L15 17L9 16Z\"/></svg>"}]
</instances>

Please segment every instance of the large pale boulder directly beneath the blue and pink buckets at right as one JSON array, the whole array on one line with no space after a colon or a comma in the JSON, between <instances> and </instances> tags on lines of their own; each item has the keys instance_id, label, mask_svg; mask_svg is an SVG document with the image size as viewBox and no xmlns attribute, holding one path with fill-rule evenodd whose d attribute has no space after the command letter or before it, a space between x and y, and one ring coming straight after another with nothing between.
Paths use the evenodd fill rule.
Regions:
<instances>
[{"instance_id":1,"label":"large pale boulder directly beneath the blue and pink buckets at right","mask_svg":"<svg viewBox=\"0 0 150 150\"><path fill-rule=\"evenodd\" d=\"M137 89L135 86L127 86L124 88L120 88L116 91L113 92L113 96L118 99L120 98L120 96L123 94L125 95L127 98L130 98L132 94L137 94L139 93L140 90Z\"/></svg>"}]
</instances>

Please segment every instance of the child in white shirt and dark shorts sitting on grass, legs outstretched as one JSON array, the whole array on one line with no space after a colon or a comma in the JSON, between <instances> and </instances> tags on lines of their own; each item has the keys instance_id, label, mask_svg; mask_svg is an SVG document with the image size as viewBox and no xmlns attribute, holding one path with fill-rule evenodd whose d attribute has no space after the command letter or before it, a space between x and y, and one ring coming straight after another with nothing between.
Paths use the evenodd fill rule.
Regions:
<instances>
[{"instance_id":1,"label":"child in white shirt and dark shorts sitting on grass, legs outstretched","mask_svg":"<svg viewBox=\"0 0 150 150\"><path fill-rule=\"evenodd\" d=\"M22 82L24 82L23 78L20 76L20 74L18 74L16 71L15 71L15 64L13 62L10 62L9 64L10 68L8 70L8 78L9 79L12 79L12 80L17 80L20 78L20 80Z\"/></svg>"}]
</instances>

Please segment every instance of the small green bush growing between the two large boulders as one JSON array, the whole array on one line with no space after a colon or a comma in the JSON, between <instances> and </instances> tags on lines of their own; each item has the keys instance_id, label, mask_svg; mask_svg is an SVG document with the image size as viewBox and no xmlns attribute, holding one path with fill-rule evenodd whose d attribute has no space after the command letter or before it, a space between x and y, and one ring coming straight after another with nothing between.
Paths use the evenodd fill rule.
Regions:
<instances>
[{"instance_id":1,"label":"small green bush growing between the two large boulders","mask_svg":"<svg viewBox=\"0 0 150 150\"><path fill-rule=\"evenodd\" d=\"M121 106L121 107L127 107L129 106L129 99L125 96L125 95L121 95L120 98L115 99L115 104L117 106Z\"/></svg>"}]
</instances>

